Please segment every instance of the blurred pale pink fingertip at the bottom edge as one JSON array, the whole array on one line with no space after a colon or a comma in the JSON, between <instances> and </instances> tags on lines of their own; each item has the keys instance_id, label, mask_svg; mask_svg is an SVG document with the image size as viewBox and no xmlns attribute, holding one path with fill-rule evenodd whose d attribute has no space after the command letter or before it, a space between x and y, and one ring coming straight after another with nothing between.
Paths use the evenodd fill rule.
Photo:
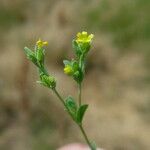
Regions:
<instances>
[{"instance_id":1,"label":"blurred pale pink fingertip at the bottom edge","mask_svg":"<svg viewBox=\"0 0 150 150\"><path fill-rule=\"evenodd\" d=\"M90 150L90 149L85 145L74 143L61 147L58 150ZM104 149L98 148L97 150L104 150Z\"/></svg>"}]
</instances>

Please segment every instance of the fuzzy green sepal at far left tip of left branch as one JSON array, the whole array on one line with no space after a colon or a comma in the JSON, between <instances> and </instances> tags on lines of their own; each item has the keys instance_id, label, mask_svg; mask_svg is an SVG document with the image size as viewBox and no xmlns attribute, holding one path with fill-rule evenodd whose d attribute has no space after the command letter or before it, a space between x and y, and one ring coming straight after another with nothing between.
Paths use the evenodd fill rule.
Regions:
<instances>
[{"instance_id":1,"label":"fuzzy green sepal at far left tip of left branch","mask_svg":"<svg viewBox=\"0 0 150 150\"><path fill-rule=\"evenodd\" d=\"M24 52L25 52L27 58L29 60L31 60L36 66L38 66L35 53L32 50L30 50L28 47L24 47Z\"/></svg>"}]
</instances>

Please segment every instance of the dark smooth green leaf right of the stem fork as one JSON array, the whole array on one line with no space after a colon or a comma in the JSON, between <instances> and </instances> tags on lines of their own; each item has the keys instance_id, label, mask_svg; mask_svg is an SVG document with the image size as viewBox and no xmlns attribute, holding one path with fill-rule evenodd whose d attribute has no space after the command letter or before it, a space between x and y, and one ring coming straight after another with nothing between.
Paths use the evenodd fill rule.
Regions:
<instances>
[{"instance_id":1,"label":"dark smooth green leaf right of the stem fork","mask_svg":"<svg viewBox=\"0 0 150 150\"><path fill-rule=\"evenodd\" d=\"M85 111L87 110L88 105L84 104L82 106L79 107L78 111L77 111L77 122L78 123L82 123Z\"/></svg>"}]
</instances>

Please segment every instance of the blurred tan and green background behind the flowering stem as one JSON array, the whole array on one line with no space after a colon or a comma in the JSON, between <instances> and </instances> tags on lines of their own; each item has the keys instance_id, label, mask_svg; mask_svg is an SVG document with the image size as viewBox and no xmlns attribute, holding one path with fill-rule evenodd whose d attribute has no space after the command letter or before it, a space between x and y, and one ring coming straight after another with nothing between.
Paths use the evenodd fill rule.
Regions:
<instances>
[{"instance_id":1,"label":"blurred tan and green background behind the flowering stem","mask_svg":"<svg viewBox=\"0 0 150 150\"><path fill-rule=\"evenodd\" d=\"M83 84L89 137L106 150L150 149L149 0L0 0L0 150L84 143L23 52L48 41L47 68L63 96L76 97L62 61L83 30L95 35Z\"/></svg>"}]
</instances>

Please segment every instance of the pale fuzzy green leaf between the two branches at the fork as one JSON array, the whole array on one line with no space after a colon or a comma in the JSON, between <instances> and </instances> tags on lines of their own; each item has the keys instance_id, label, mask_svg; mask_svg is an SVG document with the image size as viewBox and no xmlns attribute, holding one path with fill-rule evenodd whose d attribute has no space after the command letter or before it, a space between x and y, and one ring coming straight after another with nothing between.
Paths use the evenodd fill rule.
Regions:
<instances>
[{"instance_id":1,"label":"pale fuzzy green leaf between the two branches at the fork","mask_svg":"<svg viewBox=\"0 0 150 150\"><path fill-rule=\"evenodd\" d=\"M77 104L75 100L71 96L68 96L65 100L65 105L69 114L76 121Z\"/></svg>"}]
</instances>

